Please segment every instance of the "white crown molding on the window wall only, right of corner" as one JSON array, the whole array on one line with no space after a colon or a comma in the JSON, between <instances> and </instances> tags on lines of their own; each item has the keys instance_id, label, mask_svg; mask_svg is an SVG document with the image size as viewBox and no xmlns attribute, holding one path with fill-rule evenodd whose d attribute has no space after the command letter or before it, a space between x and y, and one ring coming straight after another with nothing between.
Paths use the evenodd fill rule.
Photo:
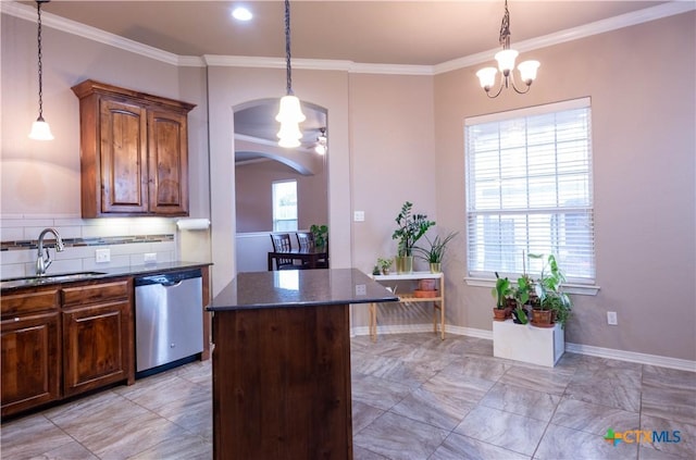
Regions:
<instances>
[{"instance_id":1,"label":"white crown molding on the window wall only, right of corner","mask_svg":"<svg viewBox=\"0 0 696 460\"><path fill-rule=\"evenodd\" d=\"M646 8L645 10L638 10L632 13L621 14L619 16L608 17L606 20L584 24L582 26L560 30L549 35L544 35L542 37L517 41L514 43L514 49L520 52L532 51L539 48L560 45L567 41L579 40L581 38L591 37L593 35L604 34L607 32L660 20L662 17L673 16L675 14L686 13L693 10L696 10L696 2L694 1L672 1L669 3L659 4L657 7ZM434 66L434 74L443 74L463 67L470 67L472 65L490 62L493 61L493 55L498 51L500 51L500 48L495 48L488 51L483 51L436 64Z\"/></svg>"}]
</instances>

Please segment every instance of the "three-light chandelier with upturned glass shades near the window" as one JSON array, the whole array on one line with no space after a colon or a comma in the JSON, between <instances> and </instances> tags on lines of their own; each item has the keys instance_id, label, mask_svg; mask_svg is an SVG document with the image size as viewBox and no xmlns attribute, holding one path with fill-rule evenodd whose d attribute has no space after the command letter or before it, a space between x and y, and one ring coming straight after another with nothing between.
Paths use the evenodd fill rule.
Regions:
<instances>
[{"instance_id":1,"label":"three-light chandelier with upturned glass shades near the window","mask_svg":"<svg viewBox=\"0 0 696 460\"><path fill-rule=\"evenodd\" d=\"M538 61L524 61L518 65L518 71L520 71L520 77L522 82L526 85L524 89L520 89L514 85L514 76L512 75L512 71L514 70L514 60L517 59L519 52L510 49L510 12L508 11L508 0L505 0L505 15L502 16L502 23L500 24L500 45L502 45L502 51L498 51L495 55L496 61L498 61L498 69L502 74L502 78L500 80L500 87L498 91L495 94L490 92L490 88L496 83L496 74L498 70L495 67L485 67L476 72L476 76L481 82L481 87L486 90L486 96L489 98L497 98L498 95L502 91L502 88L512 87L518 94L523 95L530 90L530 86L532 86L532 82L536 78L536 71L539 67Z\"/></svg>"}]
</instances>

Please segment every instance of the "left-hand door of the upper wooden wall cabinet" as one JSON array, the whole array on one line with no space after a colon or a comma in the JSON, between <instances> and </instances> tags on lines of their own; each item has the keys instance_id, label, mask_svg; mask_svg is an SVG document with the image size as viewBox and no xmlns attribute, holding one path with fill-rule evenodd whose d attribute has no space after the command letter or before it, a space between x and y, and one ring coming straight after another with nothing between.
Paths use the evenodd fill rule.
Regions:
<instances>
[{"instance_id":1,"label":"left-hand door of the upper wooden wall cabinet","mask_svg":"<svg viewBox=\"0 0 696 460\"><path fill-rule=\"evenodd\" d=\"M100 101L101 212L147 213L147 115L137 104Z\"/></svg>"}]
</instances>

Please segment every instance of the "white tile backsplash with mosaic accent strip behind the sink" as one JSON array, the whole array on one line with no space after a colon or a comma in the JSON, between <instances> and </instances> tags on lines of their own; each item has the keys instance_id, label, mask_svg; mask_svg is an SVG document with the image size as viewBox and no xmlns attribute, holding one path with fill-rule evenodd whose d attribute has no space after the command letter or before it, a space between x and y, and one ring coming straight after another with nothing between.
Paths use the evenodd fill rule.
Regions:
<instances>
[{"instance_id":1,"label":"white tile backsplash with mosaic accent strip behind the sink","mask_svg":"<svg viewBox=\"0 0 696 460\"><path fill-rule=\"evenodd\" d=\"M57 216L0 216L0 278L33 275L37 239L44 228L55 228L65 250L57 252L48 234L52 264L48 273L98 271L145 263L154 253L157 262L178 259L176 220L165 217L75 219ZM97 249L109 249L110 261L96 260Z\"/></svg>"}]
</instances>

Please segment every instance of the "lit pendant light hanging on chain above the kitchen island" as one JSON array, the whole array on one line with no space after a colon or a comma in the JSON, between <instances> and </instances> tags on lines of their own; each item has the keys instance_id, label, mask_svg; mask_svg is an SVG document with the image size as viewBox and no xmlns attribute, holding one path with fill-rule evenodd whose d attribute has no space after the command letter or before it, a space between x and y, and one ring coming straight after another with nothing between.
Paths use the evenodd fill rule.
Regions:
<instances>
[{"instance_id":1,"label":"lit pendant light hanging on chain above the kitchen island","mask_svg":"<svg viewBox=\"0 0 696 460\"><path fill-rule=\"evenodd\" d=\"M293 67L290 66L290 2L285 0L285 69L286 95L281 99L281 107L275 121L281 123L278 146L295 148L300 146L302 132L299 124L307 120L300 107L300 100L293 92Z\"/></svg>"}]
</instances>

